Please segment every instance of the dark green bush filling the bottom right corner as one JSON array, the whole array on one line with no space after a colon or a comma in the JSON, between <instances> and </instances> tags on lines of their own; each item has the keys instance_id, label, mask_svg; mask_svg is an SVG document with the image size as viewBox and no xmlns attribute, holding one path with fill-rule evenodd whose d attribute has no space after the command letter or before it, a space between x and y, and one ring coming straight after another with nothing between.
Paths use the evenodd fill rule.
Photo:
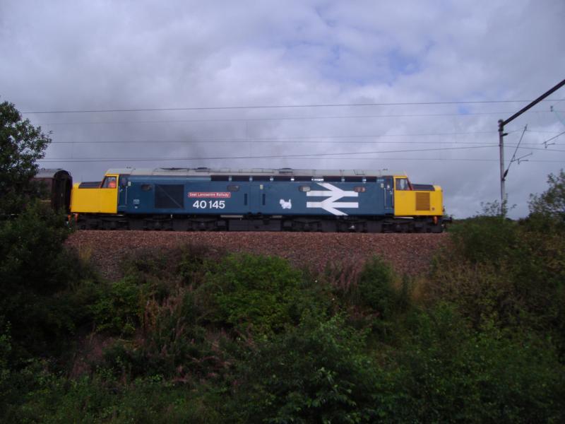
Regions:
<instances>
[{"instance_id":1,"label":"dark green bush filling the bottom right corner","mask_svg":"<svg viewBox=\"0 0 565 424\"><path fill-rule=\"evenodd\" d=\"M396 422L539 423L565 418L565 367L532 334L473 330L453 305L412 317L388 394ZM404 394L398 398L398 394Z\"/></svg>"}]
</instances>

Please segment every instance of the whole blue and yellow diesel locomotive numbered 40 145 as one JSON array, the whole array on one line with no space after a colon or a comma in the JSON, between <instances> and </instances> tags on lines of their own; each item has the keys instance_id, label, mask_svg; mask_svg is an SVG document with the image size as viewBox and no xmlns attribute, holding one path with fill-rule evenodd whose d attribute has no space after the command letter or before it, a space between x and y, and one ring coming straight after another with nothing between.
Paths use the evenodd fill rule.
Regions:
<instances>
[{"instance_id":1,"label":"whole blue and yellow diesel locomotive numbered 40 145","mask_svg":"<svg viewBox=\"0 0 565 424\"><path fill-rule=\"evenodd\" d=\"M73 184L79 229L441 232L443 193L371 170L121 168Z\"/></svg>"}]
</instances>

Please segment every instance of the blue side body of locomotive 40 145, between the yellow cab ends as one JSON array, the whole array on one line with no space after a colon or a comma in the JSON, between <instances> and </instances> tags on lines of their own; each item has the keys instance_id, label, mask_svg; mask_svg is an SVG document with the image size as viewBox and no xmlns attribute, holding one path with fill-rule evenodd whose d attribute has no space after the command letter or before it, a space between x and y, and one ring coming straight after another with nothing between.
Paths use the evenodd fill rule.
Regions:
<instances>
[{"instance_id":1,"label":"blue side body of locomotive 40 145, between the yellow cab ends","mask_svg":"<svg viewBox=\"0 0 565 424\"><path fill-rule=\"evenodd\" d=\"M125 178L125 177L123 177ZM346 181L275 181L246 175L131 175L120 187L118 212L165 215L392 216L391 177Z\"/></svg>"}]
</instances>

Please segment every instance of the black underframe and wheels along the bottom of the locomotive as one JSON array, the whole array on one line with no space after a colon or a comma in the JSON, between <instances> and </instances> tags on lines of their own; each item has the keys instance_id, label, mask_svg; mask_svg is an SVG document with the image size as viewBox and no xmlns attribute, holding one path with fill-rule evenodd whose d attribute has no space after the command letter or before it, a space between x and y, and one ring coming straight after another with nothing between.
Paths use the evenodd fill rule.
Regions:
<instances>
[{"instance_id":1,"label":"black underframe and wheels along the bottom of the locomotive","mask_svg":"<svg viewBox=\"0 0 565 424\"><path fill-rule=\"evenodd\" d=\"M79 214L81 230L442 232L442 218Z\"/></svg>"}]
</instances>

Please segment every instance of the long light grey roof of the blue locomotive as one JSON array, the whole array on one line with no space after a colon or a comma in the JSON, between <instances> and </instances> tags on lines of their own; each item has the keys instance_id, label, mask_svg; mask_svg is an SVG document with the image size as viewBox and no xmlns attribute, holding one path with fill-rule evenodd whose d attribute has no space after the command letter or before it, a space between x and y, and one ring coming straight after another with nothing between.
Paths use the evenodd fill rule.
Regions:
<instances>
[{"instance_id":1,"label":"long light grey roof of the blue locomotive","mask_svg":"<svg viewBox=\"0 0 565 424\"><path fill-rule=\"evenodd\" d=\"M230 169L230 168L114 168L109 169L107 174L129 174L129 175L174 175L179 177L195 177L195 176L209 176L209 175L287 175L304 176L304 177L323 177L323 176L342 176L342 177L355 177L355 176L371 176L382 177L385 175L406 175L405 172L391 172L388 170L295 170L292 168L244 168L244 169Z\"/></svg>"}]
</instances>

